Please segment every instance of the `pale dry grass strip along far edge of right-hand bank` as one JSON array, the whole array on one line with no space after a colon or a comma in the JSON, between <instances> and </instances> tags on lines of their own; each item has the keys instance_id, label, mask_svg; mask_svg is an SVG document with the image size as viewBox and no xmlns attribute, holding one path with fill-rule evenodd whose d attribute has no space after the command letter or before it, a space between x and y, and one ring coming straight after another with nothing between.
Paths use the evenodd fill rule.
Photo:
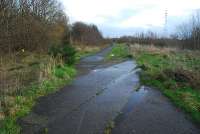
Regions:
<instances>
[{"instance_id":1,"label":"pale dry grass strip along far edge of right-hand bank","mask_svg":"<svg viewBox=\"0 0 200 134\"><path fill-rule=\"evenodd\" d=\"M131 52L134 56L140 53L149 53L152 55L162 56L169 59L171 66L179 66L182 69L200 72L200 51L181 50L179 48L162 47L158 48L153 45L131 45Z\"/></svg>"}]
</instances>

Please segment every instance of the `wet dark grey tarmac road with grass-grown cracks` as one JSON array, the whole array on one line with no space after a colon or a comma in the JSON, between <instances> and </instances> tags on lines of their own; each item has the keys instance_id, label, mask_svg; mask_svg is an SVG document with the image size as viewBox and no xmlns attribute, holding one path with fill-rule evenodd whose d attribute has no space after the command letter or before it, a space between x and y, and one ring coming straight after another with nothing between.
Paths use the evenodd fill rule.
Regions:
<instances>
[{"instance_id":1,"label":"wet dark grey tarmac road with grass-grown cracks","mask_svg":"<svg viewBox=\"0 0 200 134\"><path fill-rule=\"evenodd\" d=\"M77 66L72 84L38 100L18 122L24 134L200 134L159 91L139 86L133 60L105 62L106 48ZM109 129L109 128L107 128Z\"/></svg>"}]
</instances>

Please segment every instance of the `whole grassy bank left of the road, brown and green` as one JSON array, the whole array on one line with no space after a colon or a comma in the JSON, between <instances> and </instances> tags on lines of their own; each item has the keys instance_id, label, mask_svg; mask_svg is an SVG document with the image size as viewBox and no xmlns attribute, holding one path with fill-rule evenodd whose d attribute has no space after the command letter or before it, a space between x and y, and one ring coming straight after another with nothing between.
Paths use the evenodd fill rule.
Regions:
<instances>
[{"instance_id":1,"label":"whole grassy bank left of the road, brown and green","mask_svg":"<svg viewBox=\"0 0 200 134\"><path fill-rule=\"evenodd\" d=\"M76 70L49 55L23 53L18 59L4 58L11 60L1 60L0 134L19 134L17 119L31 111L37 98L69 83Z\"/></svg>"}]
</instances>

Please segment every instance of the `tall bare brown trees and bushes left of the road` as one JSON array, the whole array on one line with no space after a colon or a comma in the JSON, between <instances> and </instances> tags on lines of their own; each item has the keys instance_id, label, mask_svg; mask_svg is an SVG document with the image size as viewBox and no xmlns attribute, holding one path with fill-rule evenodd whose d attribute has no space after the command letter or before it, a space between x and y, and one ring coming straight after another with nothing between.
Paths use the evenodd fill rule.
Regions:
<instances>
[{"instance_id":1,"label":"tall bare brown trees and bushes left of the road","mask_svg":"<svg viewBox=\"0 0 200 134\"><path fill-rule=\"evenodd\" d=\"M0 0L1 53L46 51L52 45L95 44L102 39L95 25L70 25L57 0Z\"/></svg>"}]
</instances>

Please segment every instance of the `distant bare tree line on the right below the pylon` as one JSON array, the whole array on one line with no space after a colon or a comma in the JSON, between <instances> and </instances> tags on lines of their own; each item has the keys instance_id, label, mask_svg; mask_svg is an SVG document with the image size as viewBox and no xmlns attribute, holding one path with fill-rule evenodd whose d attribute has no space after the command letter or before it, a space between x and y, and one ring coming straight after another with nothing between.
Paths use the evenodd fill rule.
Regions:
<instances>
[{"instance_id":1,"label":"distant bare tree line on the right below the pylon","mask_svg":"<svg viewBox=\"0 0 200 134\"><path fill-rule=\"evenodd\" d=\"M122 36L113 40L117 42L155 45L158 47L200 50L200 11L193 13L187 22L178 25L177 31L169 37L161 37L155 32L148 31L137 33L133 36Z\"/></svg>"}]
</instances>

